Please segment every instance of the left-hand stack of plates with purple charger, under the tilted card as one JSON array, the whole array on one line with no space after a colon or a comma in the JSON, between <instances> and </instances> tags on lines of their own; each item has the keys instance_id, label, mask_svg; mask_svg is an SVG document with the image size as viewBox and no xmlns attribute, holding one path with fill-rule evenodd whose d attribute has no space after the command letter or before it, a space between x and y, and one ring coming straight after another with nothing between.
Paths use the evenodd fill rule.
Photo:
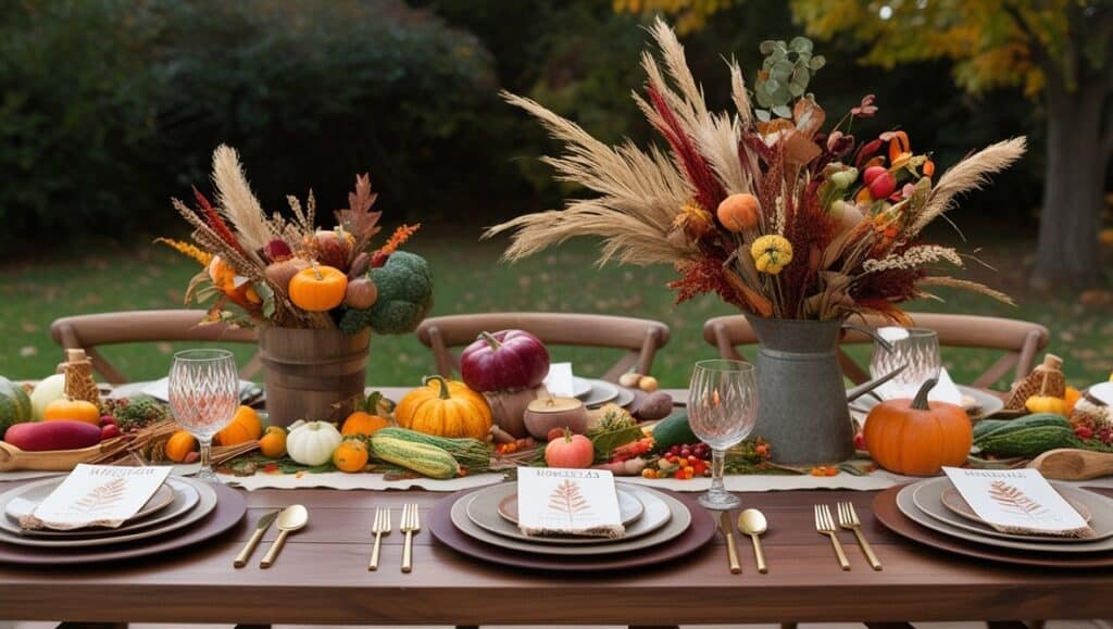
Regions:
<instances>
[{"instance_id":1,"label":"left-hand stack of plates with purple charger, under the tilted card","mask_svg":"<svg viewBox=\"0 0 1113 629\"><path fill-rule=\"evenodd\" d=\"M246 511L234 490L171 476L117 528L21 528L19 518L31 513L65 479L29 482L0 494L0 561L69 563L151 554L223 532Z\"/></svg>"}]
</instances>

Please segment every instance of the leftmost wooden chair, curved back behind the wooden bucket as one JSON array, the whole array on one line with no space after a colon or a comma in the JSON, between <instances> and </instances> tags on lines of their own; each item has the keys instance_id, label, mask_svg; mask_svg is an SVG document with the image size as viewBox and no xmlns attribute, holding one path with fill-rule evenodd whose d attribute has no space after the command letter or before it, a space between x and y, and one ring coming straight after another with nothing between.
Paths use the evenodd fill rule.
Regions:
<instances>
[{"instance_id":1,"label":"leftmost wooden chair, curved back behind the wooden bucket","mask_svg":"<svg viewBox=\"0 0 1113 629\"><path fill-rule=\"evenodd\" d=\"M75 315L50 324L50 336L65 350L85 350L92 360L93 370L111 384L124 384L128 379L97 351L99 345L159 341L256 342L254 330L234 328L223 323L201 324L204 318L205 311L187 309ZM256 355L240 370L240 377L250 379L262 366Z\"/></svg>"}]
</instances>

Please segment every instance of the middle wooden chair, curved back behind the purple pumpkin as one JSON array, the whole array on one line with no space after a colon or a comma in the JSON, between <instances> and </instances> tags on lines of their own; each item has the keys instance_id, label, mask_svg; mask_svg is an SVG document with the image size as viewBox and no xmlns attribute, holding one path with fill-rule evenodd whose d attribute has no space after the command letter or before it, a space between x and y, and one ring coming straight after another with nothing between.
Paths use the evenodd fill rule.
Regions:
<instances>
[{"instance_id":1,"label":"middle wooden chair, curved back behind the purple pumpkin","mask_svg":"<svg viewBox=\"0 0 1113 629\"><path fill-rule=\"evenodd\" d=\"M603 380L618 382L634 367L648 374L657 350L669 342L669 326L659 321L571 313L482 313L426 318L417 326L417 338L433 351L436 371L449 376L460 371L454 348L470 345L480 332L524 330L545 344L612 347L627 353L607 371Z\"/></svg>"}]
</instances>

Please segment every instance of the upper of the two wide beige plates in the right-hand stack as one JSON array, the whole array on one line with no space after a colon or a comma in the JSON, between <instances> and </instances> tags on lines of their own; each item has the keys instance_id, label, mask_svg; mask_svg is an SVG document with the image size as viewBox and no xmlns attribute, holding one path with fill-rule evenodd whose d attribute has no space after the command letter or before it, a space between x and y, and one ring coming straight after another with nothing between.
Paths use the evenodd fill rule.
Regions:
<instances>
[{"instance_id":1,"label":"upper of the two wide beige plates in the right-hand stack","mask_svg":"<svg viewBox=\"0 0 1113 629\"><path fill-rule=\"evenodd\" d=\"M916 488L913 490L912 493L912 500L913 504L919 508L920 511L927 513L932 518L935 518L939 522L943 522L956 529L962 529L964 531L971 531L973 533L988 535L991 538L998 538L1003 540L1018 540L1018 541L1028 541L1033 543L1052 543L1052 544L1089 543L1103 540L1105 538L1113 535L1113 509L1107 507L1105 515L1099 518L1095 521L1093 518L1093 510L1090 509L1089 507L1091 497L1095 497L1097 500L1102 501L1105 500L1104 498L1097 497L1096 494L1092 494L1087 491L1078 490L1070 485L1063 485L1060 483L1053 482L1052 487L1055 488L1055 491L1057 491L1064 499L1066 499L1067 502L1078 503L1083 505L1083 509L1085 509L1086 513L1090 514L1087 521L1090 522L1091 529L1093 529L1094 531L1093 537L1072 538L1065 535L1040 535L1040 534L1025 535L1020 533L1008 533L1004 531L998 531L989 527L988 524L982 522L975 522L973 520L969 520L968 518L958 517L956 515L954 509L948 507L947 503L944 501L944 494L948 490L954 491L956 497L959 500L962 500L962 494L958 493L958 490L956 490L952 484L951 479L947 478L930 479L916 483ZM966 501L963 500L964 505ZM966 508L969 509L968 505ZM1099 511L1101 511L1101 509L1099 509ZM973 514L973 510L971 511L971 514Z\"/></svg>"}]
</instances>

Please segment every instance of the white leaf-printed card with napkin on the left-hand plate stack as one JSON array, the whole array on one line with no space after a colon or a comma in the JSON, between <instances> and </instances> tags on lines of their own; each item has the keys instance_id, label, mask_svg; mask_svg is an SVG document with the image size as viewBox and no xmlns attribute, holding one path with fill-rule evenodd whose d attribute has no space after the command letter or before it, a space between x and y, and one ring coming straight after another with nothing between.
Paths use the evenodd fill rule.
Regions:
<instances>
[{"instance_id":1,"label":"white leaf-printed card with napkin on the left-hand plate stack","mask_svg":"<svg viewBox=\"0 0 1113 629\"><path fill-rule=\"evenodd\" d=\"M29 515L23 529L117 528L142 509L170 474L168 465L128 468L79 463Z\"/></svg>"}]
</instances>

